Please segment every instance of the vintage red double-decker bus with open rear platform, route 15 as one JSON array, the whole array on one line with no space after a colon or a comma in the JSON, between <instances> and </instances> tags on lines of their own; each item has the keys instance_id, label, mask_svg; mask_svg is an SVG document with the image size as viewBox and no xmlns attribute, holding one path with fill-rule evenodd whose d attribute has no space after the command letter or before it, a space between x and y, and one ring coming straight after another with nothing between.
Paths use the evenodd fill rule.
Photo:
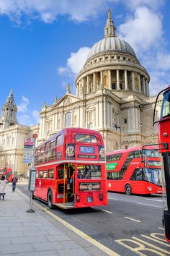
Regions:
<instances>
[{"instance_id":1,"label":"vintage red double-decker bus with open rear platform, route 15","mask_svg":"<svg viewBox=\"0 0 170 256\"><path fill-rule=\"evenodd\" d=\"M35 150L34 197L48 202L49 208L107 205L105 164L99 132L63 129Z\"/></svg>"}]
</instances>

